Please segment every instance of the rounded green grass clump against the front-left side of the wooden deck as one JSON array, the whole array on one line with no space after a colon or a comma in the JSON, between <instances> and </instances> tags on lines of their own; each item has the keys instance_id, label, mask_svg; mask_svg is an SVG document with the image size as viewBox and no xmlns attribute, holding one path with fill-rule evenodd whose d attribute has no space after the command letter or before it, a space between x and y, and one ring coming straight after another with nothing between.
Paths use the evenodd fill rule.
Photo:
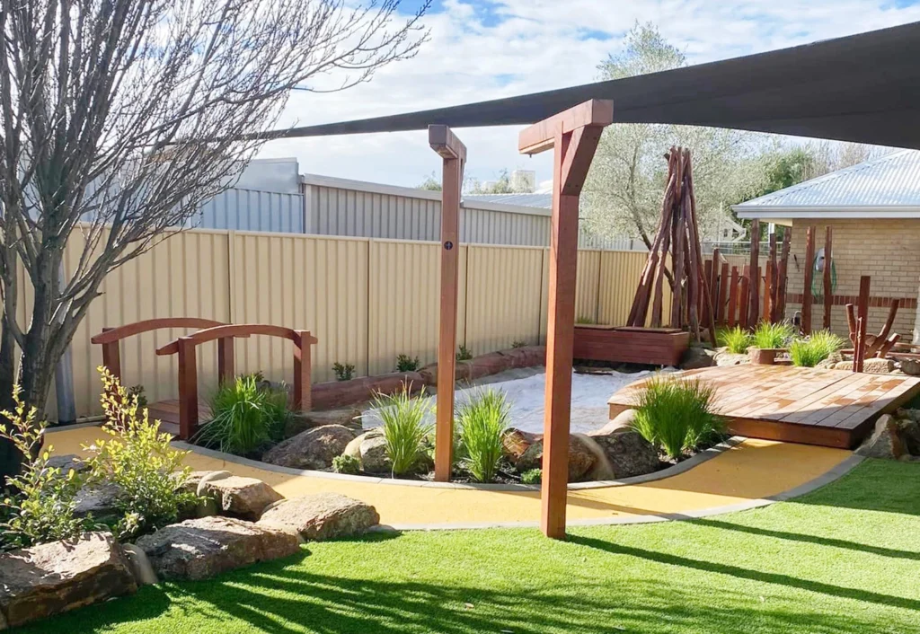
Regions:
<instances>
[{"instance_id":1,"label":"rounded green grass clump against the front-left side of the wooden deck","mask_svg":"<svg viewBox=\"0 0 920 634\"><path fill-rule=\"evenodd\" d=\"M714 412L715 390L699 379L655 375L639 393L633 427L671 458L725 432Z\"/></svg>"}]
</instances>

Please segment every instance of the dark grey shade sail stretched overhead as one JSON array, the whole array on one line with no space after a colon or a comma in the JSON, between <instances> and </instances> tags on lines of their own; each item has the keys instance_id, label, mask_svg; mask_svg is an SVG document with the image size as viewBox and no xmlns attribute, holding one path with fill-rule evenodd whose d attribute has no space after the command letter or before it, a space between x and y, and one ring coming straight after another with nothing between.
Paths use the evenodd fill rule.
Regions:
<instances>
[{"instance_id":1,"label":"dark grey shade sail stretched overhead","mask_svg":"<svg viewBox=\"0 0 920 634\"><path fill-rule=\"evenodd\" d=\"M672 71L260 133L270 138L520 125L591 98L622 123L684 123L920 149L920 22Z\"/></svg>"}]
</instances>

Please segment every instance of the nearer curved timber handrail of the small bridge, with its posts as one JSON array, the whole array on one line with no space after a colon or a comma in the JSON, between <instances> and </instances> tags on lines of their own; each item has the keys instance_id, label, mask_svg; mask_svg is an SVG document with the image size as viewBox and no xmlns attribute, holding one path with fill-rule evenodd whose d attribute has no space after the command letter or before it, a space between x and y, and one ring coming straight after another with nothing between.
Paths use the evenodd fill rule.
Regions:
<instances>
[{"instance_id":1,"label":"nearer curved timber handrail of the small bridge, with its posts","mask_svg":"<svg viewBox=\"0 0 920 634\"><path fill-rule=\"evenodd\" d=\"M185 337L172 340L156 350L160 356L178 354L178 435L190 439L198 427L198 365L195 347L207 341L219 340L218 355L223 354L220 380L233 379L233 340L236 337L267 335L293 342L293 395L292 409L306 411L312 405L310 383L312 362L310 346L317 343L309 330L295 330L270 324L223 324L198 330Z\"/></svg>"}]
</instances>

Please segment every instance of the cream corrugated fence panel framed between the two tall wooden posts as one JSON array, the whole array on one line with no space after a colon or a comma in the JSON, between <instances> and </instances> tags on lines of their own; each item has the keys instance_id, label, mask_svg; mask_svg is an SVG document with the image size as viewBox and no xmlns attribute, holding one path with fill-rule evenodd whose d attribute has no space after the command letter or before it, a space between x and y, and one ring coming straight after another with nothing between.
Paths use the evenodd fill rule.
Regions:
<instances>
[{"instance_id":1,"label":"cream corrugated fence panel framed between the two tall wooden posts","mask_svg":"<svg viewBox=\"0 0 920 634\"><path fill-rule=\"evenodd\" d=\"M474 354L539 337L543 250L468 248L466 346Z\"/></svg>"}]
</instances>

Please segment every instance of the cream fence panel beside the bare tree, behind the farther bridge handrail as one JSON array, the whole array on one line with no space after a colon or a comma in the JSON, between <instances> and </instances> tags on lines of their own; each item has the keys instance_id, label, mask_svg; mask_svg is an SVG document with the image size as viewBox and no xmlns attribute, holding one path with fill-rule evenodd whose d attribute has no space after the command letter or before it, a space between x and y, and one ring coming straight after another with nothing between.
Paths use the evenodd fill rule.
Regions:
<instances>
[{"instance_id":1,"label":"cream fence panel beside the bare tree, behind the farther bridge handrail","mask_svg":"<svg viewBox=\"0 0 920 634\"><path fill-rule=\"evenodd\" d=\"M82 243L67 249L65 270L70 272ZM98 414L101 383L96 368L102 363L101 346L90 338L103 328L113 328L156 317L205 317L228 321L229 276L227 235L188 231L172 236L141 257L111 271L102 293L89 306L72 345L74 393L79 416ZM177 398L175 355L156 356L155 350L185 334L181 329L156 330L121 342L121 374L126 386L142 385L151 402ZM205 344L198 354L202 397L216 385L217 352Z\"/></svg>"}]
</instances>

